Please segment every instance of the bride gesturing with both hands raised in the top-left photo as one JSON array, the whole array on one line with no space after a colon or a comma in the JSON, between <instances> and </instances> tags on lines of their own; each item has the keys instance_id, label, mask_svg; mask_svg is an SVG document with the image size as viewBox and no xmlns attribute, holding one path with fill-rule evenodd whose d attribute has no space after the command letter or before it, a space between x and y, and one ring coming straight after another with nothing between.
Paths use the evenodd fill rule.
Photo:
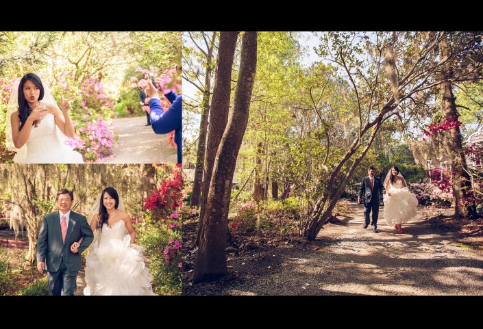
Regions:
<instances>
[{"instance_id":1,"label":"bride gesturing with both hands raised in the top-left photo","mask_svg":"<svg viewBox=\"0 0 483 329\"><path fill-rule=\"evenodd\" d=\"M8 102L5 137L14 150L14 163L84 163L82 155L65 144L74 137L69 110L75 96L61 96L60 107L40 77L27 73L14 85Z\"/></svg>"}]
</instances>

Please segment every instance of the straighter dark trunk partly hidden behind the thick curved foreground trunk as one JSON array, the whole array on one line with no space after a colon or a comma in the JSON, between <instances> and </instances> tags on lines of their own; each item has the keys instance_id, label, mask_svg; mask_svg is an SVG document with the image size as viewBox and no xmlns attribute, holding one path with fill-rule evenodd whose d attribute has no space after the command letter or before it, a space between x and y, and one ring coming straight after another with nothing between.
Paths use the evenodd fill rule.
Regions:
<instances>
[{"instance_id":1,"label":"straighter dark trunk partly hidden behind the thick curved foreground trunk","mask_svg":"<svg viewBox=\"0 0 483 329\"><path fill-rule=\"evenodd\" d=\"M225 131L230 109L230 94L232 87L232 66L235 55L238 32L220 33L218 58L216 60L216 79L214 82L213 99L210 107L208 140L206 142L206 157L203 174L203 193L201 201L198 240L203 230L201 218L206 209L208 189L213 172L214 158Z\"/></svg>"}]
</instances>

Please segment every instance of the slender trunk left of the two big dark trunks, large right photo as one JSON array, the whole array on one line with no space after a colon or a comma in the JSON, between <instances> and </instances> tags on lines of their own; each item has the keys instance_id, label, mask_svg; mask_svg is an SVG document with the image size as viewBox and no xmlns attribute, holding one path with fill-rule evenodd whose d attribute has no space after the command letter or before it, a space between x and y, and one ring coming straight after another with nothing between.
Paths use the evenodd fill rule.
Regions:
<instances>
[{"instance_id":1,"label":"slender trunk left of the two big dark trunks, large right photo","mask_svg":"<svg viewBox=\"0 0 483 329\"><path fill-rule=\"evenodd\" d=\"M216 38L216 32L212 34L211 47L208 49L208 55L206 56L206 74L205 84L203 92L203 101L201 106L203 107L203 113L201 114L201 122L199 122L199 137L198 137L198 150L196 153L196 168L195 179L193 181L193 192L191 192L190 206L199 206L199 197L201 195L201 186L203 184L203 166L205 164L205 152L206 152L206 135L208 133L208 116L210 115L210 90L211 90L211 72L212 72L212 60L213 60L213 47L214 39Z\"/></svg>"}]
</instances>

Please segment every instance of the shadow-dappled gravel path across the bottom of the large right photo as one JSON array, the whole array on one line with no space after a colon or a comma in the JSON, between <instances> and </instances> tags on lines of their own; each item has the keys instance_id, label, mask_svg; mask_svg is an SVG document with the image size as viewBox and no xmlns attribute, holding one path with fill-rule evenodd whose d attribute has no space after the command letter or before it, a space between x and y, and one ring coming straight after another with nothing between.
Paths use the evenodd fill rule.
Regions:
<instances>
[{"instance_id":1,"label":"shadow-dappled gravel path across the bottom of the large right photo","mask_svg":"<svg viewBox=\"0 0 483 329\"><path fill-rule=\"evenodd\" d=\"M382 217L362 228L362 205L326 224L313 242L229 258L230 274L184 285L184 295L483 295L483 255L448 226L418 218L399 234Z\"/></svg>"}]
</instances>

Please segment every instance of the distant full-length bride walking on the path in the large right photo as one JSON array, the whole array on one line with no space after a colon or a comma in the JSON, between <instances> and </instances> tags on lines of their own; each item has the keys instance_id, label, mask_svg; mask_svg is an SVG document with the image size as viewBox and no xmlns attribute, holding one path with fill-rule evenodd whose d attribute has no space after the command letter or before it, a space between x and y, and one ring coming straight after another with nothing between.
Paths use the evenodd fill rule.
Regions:
<instances>
[{"instance_id":1,"label":"distant full-length bride walking on the path in the large right photo","mask_svg":"<svg viewBox=\"0 0 483 329\"><path fill-rule=\"evenodd\" d=\"M389 226L394 225L398 233L403 233L401 224L417 215L418 199L409 192L406 181L396 166L386 175L384 187L384 220Z\"/></svg>"}]
</instances>

